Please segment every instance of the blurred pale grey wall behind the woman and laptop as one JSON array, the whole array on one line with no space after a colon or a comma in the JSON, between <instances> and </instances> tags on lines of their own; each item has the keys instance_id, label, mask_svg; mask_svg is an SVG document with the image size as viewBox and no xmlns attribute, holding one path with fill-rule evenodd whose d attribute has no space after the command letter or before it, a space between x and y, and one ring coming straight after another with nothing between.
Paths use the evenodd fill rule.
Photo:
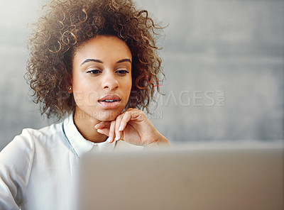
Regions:
<instances>
[{"instance_id":1,"label":"blurred pale grey wall behind the woman and laptop","mask_svg":"<svg viewBox=\"0 0 284 210\"><path fill-rule=\"evenodd\" d=\"M23 78L43 0L0 0L0 150L40 116ZM284 1L136 0L163 30L165 94L151 121L173 145L283 143Z\"/></svg>"}]
</instances>

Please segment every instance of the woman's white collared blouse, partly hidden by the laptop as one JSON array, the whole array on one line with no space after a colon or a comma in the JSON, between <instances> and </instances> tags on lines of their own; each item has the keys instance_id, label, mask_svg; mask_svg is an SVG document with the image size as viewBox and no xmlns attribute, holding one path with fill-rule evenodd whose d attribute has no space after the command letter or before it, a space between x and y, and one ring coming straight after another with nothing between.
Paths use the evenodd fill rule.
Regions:
<instances>
[{"instance_id":1,"label":"woman's white collared blouse, partly hidden by the laptop","mask_svg":"<svg viewBox=\"0 0 284 210\"><path fill-rule=\"evenodd\" d=\"M0 209L72 209L80 157L129 146L84 139L72 115L40 130L23 129L0 153Z\"/></svg>"}]
</instances>

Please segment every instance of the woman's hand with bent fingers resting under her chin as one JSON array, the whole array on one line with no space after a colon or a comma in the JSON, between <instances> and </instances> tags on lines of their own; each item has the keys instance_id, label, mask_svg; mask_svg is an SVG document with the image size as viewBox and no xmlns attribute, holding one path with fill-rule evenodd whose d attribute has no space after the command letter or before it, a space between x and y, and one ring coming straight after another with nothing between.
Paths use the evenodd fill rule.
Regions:
<instances>
[{"instance_id":1,"label":"woman's hand with bent fingers resting under her chin","mask_svg":"<svg viewBox=\"0 0 284 210\"><path fill-rule=\"evenodd\" d=\"M169 145L168 140L160 134L143 111L129 108L116 117L114 121L98 123L99 133L109 136L109 143L124 140L133 145L146 147Z\"/></svg>"}]
</instances>

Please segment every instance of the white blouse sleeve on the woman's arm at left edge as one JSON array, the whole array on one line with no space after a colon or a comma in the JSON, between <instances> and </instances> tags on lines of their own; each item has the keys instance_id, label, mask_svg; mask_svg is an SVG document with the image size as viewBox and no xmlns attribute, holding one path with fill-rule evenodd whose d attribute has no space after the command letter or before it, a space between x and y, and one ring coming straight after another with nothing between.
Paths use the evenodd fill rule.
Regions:
<instances>
[{"instance_id":1,"label":"white blouse sleeve on the woman's arm at left edge","mask_svg":"<svg viewBox=\"0 0 284 210\"><path fill-rule=\"evenodd\" d=\"M28 129L0 153L0 209L20 209L33 164L34 143Z\"/></svg>"}]
</instances>

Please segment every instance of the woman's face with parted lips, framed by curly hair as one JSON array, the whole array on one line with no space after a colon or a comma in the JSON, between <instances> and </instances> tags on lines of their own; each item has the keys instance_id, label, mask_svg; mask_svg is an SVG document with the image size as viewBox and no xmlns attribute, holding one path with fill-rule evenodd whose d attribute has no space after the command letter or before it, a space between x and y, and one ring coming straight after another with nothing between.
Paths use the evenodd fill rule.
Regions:
<instances>
[{"instance_id":1,"label":"woman's face with parted lips, framed by curly hair","mask_svg":"<svg viewBox=\"0 0 284 210\"><path fill-rule=\"evenodd\" d=\"M132 56L115 36L99 35L83 43L72 60L72 92L80 117L112 121L131 92Z\"/></svg>"}]
</instances>

